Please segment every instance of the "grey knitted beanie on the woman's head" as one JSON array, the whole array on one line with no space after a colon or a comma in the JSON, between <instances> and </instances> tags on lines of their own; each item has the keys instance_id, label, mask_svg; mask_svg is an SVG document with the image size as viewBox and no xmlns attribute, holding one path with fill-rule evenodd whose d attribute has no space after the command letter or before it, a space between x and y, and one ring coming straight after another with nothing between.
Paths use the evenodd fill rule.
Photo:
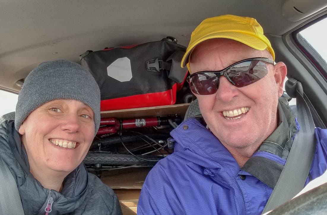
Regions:
<instances>
[{"instance_id":1,"label":"grey knitted beanie on the woman's head","mask_svg":"<svg viewBox=\"0 0 327 215\"><path fill-rule=\"evenodd\" d=\"M34 109L55 99L74 99L92 108L95 134L100 126L100 90L92 74L68 60L41 63L27 75L18 95L15 128Z\"/></svg>"}]
</instances>

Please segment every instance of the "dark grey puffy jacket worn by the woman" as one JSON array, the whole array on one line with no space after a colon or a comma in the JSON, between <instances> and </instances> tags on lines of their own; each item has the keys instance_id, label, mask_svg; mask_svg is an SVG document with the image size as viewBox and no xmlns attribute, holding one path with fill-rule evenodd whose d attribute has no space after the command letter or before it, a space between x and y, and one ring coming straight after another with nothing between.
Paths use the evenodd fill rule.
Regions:
<instances>
[{"instance_id":1,"label":"dark grey puffy jacket worn by the woman","mask_svg":"<svg viewBox=\"0 0 327 215\"><path fill-rule=\"evenodd\" d=\"M49 200L53 200L49 215L122 214L113 190L88 173L83 163L67 175L61 193L43 188L29 172L26 151L14 121L0 125L0 156L16 180L26 215L44 215Z\"/></svg>"}]
</instances>

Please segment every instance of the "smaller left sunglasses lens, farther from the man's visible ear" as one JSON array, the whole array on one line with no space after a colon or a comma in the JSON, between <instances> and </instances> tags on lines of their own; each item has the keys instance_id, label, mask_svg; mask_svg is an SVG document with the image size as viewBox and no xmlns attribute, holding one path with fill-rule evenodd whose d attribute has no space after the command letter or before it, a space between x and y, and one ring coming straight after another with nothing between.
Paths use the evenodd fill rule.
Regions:
<instances>
[{"instance_id":1,"label":"smaller left sunglasses lens, farther from the man's visible ear","mask_svg":"<svg viewBox=\"0 0 327 215\"><path fill-rule=\"evenodd\" d=\"M199 73L189 78L191 91L195 94L210 95L217 91L218 77L215 73Z\"/></svg>"}]
</instances>

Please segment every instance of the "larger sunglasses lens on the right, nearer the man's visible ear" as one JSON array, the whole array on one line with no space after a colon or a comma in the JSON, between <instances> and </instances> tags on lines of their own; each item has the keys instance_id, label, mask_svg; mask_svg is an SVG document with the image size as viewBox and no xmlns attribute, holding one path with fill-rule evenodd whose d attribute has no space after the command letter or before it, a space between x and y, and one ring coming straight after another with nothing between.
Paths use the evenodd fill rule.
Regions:
<instances>
[{"instance_id":1,"label":"larger sunglasses lens on the right, nearer the man's visible ear","mask_svg":"<svg viewBox=\"0 0 327 215\"><path fill-rule=\"evenodd\" d=\"M266 63L260 60L249 60L232 66L227 75L236 87L244 87L260 80L268 73Z\"/></svg>"}]
</instances>

